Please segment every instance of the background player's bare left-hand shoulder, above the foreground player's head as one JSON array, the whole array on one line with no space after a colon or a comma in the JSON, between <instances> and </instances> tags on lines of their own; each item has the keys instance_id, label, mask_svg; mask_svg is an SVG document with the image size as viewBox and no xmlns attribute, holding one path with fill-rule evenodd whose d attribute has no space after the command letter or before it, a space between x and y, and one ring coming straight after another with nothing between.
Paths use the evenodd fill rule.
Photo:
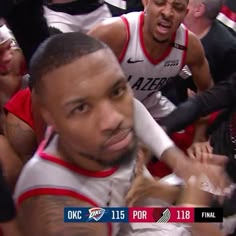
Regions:
<instances>
[{"instance_id":1,"label":"background player's bare left-hand shoulder, above the foreground player's head","mask_svg":"<svg viewBox=\"0 0 236 236\"><path fill-rule=\"evenodd\" d=\"M126 26L121 17L104 20L88 34L105 42L117 57L120 56L127 39Z\"/></svg>"}]
</instances>

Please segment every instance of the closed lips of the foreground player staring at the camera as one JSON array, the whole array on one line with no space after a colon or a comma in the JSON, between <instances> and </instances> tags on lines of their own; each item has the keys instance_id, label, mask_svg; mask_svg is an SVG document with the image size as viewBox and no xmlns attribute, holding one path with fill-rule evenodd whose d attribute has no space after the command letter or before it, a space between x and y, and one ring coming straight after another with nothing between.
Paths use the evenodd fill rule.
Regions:
<instances>
[{"instance_id":1,"label":"closed lips of the foreground player staring at the camera","mask_svg":"<svg viewBox=\"0 0 236 236\"><path fill-rule=\"evenodd\" d=\"M120 131L118 134L112 136L105 143L104 147L108 151L119 151L126 148L133 139L133 132L131 129Z\"/></svg>"}]
</instances>

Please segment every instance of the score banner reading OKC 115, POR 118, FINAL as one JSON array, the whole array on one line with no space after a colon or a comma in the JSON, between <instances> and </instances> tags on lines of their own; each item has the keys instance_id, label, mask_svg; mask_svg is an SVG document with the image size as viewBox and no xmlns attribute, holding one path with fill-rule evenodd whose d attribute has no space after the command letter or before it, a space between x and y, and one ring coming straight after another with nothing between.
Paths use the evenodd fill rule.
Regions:
<instances>
[{"instance_id":1,"label":"score banner reading OKC 115, POR 118, FINAL","mask_svg":"<svg viewBox=\"0 0 236 236\"><path fill-rule=\"evenodd\" d=\"M222 208L189 207L66 207L64 222L103 222L103 223L194 223L223 222Z\"/></svg>"}]
</instances>

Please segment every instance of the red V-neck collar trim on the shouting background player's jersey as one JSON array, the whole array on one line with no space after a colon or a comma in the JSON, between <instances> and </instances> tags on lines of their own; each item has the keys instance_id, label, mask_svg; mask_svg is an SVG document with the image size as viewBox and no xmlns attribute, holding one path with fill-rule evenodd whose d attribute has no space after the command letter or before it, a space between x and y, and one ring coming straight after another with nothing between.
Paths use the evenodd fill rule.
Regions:
<instances>
[{"instance_id":1,"label":"red V-neck collar trim on the shouting background player's jersey","mask_svg":"<svg viewBox=\"0 0 236 236\"><path fill-rule=\"evenodd\" d=\"M147 52L145 45L144 45L144 39L143 39L143 23L144 23L144 12L142 12L140 14L140 19L139 19L139 39L140 39L140 43L141 43L141 47L143 50L143 53L145 54L145 56L147 57L147 59L154 65L158 64L159 62L163 61L171 52L172 46L169 46L166 51L161 55L160 58L158 59L153 59ZM175 37L176 37L176 33L173 34L171 41L174 42L175 41Z\"/></svg>"}]
</instances>

